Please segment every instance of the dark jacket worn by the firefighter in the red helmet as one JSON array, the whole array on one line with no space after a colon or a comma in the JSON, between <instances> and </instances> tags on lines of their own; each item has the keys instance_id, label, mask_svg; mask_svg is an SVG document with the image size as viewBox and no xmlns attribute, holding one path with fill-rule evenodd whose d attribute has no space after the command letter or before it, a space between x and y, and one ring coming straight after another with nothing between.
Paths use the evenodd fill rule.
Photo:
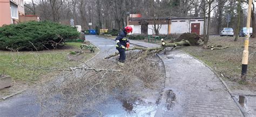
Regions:
<instances>
[{"instance_id":1,"label":"dark jacket worn by the firefighter in the red helmet","mask_svg":"<svg viewBox=\"0 0 256 117\"><path fill-rule=\"evenodd\" d=\"M126 46L126 42L129 42L127 39L126 39L126 35L127 33L125 32L125 30L119 32L119 34L117 35L117 38L116 38L116 42L117 42L117 49L125 49L125 46Z\"/></svg>"}]
</instances>

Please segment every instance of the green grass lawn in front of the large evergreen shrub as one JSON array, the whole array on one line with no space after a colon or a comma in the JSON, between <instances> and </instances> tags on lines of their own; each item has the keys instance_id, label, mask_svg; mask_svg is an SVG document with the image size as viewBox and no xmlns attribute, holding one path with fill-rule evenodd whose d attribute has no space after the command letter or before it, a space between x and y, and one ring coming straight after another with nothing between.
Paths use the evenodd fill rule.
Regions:
<instances>
[{"instance_id":1,"label":"green grass lawn in front of the large evergreen shrub","mask_svg":"<svg viewBox=\"0 0 256 117\"><path fill-rule=\"evenodd\" d=\"M0 74L10 75L15 81L36 81L48 74L51 68L69 68L79 62L69 61L66 56L71 51L80 50L79 42L67 42L62 49L44 50L40 52L6 52L0 51ZM84 50L79 55L81 61L89 60L96 55ZM98 51L98 50L96 50Z\"/></svg>"}]
</instances>

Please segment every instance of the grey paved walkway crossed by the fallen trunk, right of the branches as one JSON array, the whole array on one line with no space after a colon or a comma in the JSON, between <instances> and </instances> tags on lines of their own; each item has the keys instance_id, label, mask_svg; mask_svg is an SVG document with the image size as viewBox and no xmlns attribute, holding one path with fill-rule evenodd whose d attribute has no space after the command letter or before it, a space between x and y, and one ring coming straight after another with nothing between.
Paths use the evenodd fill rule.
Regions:
<instances>
[{"instance_id":1,"label":"grey paved walkway crossed by the fallen trunk, right of the branches","mask_svg":"<svg viewBox=\"0 0 256 117\"><path fill-rule=\"evenodd\" d=\"M203 63L179 50L158 55L165 64L166 79L156 116L243 116L220 79Z\"/></svg>"}]
</instances>

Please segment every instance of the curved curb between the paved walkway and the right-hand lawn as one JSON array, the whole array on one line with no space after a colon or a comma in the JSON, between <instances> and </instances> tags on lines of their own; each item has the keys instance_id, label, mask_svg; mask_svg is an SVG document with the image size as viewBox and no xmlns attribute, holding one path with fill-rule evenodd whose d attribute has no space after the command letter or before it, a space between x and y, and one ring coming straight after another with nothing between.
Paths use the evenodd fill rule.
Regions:
<instances>
[{"instance_id":1,"label":"curved curb between the paved walkway and the right-hand lawn","mask_svg":"<svg viewBox=\"0 0 256 117\"><path fill-rule=\"evenodd\" d=\"M179 49L177 49L179 50ZM233 95L232 91L228 88L227 84L224 82L223 78L220 77L220 75L217 74L216 71L214 71L210 66L208 66L207 64L205 64L203 61L199 60L198 58L186 53L186 52L183 52L182 50L179 50L180 52L188 55L188 56L191 56L193 57L194 59L198 60L199 62L203 63L207 68L209 68L219 79L220 79L220 82L226 87L227 89L227 92L230 94L231 98L234 100L235 104L238 106L238 108L240 109L242 115L246 116L246 111L245 109L239 104L238 100L235 98L235 96Z\"/></svg>"}]
</instances>

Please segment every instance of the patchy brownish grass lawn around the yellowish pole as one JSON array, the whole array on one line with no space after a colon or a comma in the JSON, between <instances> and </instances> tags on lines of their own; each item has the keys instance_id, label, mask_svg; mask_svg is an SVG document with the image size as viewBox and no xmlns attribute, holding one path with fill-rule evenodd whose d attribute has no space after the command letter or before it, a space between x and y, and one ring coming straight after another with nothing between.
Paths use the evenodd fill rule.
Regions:
<instances>
[{"instance_id":1,"label":"patchy brownish grass lawn around the yellowish pole","mask_svg":"<svg viewBox=\"0 0 256 117\"><path fill-rule=\"evenodd\" d=\"M201 47L180 47L180 50L198 58L212 69L216 69L221 76L221 72L229 76L227 81L239 81L241 75L241 61L242 52L244 50L244 39L240 37L237 42L234 42L234 37L220 37L213 36L210 37L208 45L222 45L223 47L229 46L226 49L211 50L202 49ZM249 63L247 70L247 83L255 85L256 81L256 39L250 39L251 47L249 48ZM228 80L229 79L229 80Z\"/></svg>"}]
</instances>

